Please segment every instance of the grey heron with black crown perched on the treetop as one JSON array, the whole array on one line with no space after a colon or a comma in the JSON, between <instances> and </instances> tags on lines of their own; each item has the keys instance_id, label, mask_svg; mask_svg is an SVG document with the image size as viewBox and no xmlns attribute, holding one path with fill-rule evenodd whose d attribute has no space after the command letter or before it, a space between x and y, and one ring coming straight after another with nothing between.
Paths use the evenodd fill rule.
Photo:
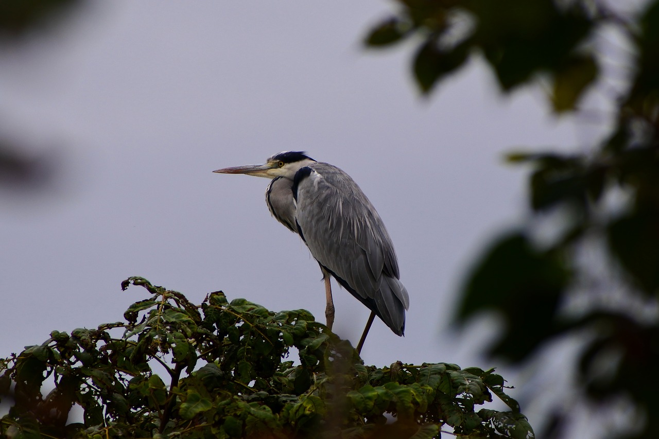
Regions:
<instances>
[{"instance_id":1,"label":"grey heron with black crown perched on the treetop","mask_svg":"<svg viewBox=\"0 0 659 439\"><path fill-rule=\"evenodd\" d=\"M403 336L409 296L399 280L391 238L378 212L347 173L298 151L280 152L262 165L214 172L272 179L266 190L270 213L300 235L320 265L329 330L334 322L331 275L371 310L357 351L375 316Z\"/></svg>"}]
</instances>

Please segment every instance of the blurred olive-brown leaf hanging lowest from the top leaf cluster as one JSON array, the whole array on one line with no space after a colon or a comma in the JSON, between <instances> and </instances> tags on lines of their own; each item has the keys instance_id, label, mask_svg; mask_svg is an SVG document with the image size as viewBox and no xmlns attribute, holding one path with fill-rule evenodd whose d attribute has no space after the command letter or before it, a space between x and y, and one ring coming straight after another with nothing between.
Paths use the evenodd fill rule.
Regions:
<instances>
[{"instance_id":1,"label":"blurred olive-brown leaf hanging lowest from the top leaf cluster","mask_svg":"<svg viewBox=\"0 0 659 439\"><path fill-rule=\"evenodd\" d=\"M554 72L554 111L574 110L586 88L596 80L597 63L592 55L573 55Z\"/></svg>"}]
</instances>

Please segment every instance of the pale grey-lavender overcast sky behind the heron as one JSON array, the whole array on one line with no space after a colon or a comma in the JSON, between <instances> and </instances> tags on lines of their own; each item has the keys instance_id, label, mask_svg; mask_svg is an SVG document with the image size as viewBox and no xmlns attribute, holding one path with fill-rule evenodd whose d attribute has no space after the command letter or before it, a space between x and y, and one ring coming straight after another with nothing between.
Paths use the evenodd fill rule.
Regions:
<instances>
[{"instance_id":1,"label":"pale grey-lavender overcast sky behind the heron","mask_svg":"<svg viewBox=\"0 0 659 439\"><path fill-rule=\"evenodd\" d=\"M405 337L378 320L364 361L500 366L479 355L493 320L461 337L448 324L469 264L527 215L527 174L503 153L589 133L552 117L539 88L501 96L479 61L420 97L412 45L361 45L390 7L95 1L0 53L3 132L61 165L43 192L0 190L0 355L121 320L147 297L121 291L129 276L323 321L318 264L271 218L268 181L212 173L305 150L376 206L410 294ZM368 309L334 296L335 332L356 344Z\"/></svg>"}]
</instances>

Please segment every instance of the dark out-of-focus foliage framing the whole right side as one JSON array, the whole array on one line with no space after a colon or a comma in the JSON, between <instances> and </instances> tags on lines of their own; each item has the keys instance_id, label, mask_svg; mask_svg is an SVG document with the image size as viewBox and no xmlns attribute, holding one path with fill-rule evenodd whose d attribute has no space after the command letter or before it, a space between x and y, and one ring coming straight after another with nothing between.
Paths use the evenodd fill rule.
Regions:
<instances>
[{"instance_id":1,"label":"dark out-of-focus foliage framing the whole right side","mask_svg":"<svg viewBox=\"0 0 659 439\"><path fill-rule=\"evenodd\" d=\"M594 404L631 397L646 422L612 437L659 438L659 384L641 379L659 364L659 1L647 1L635 16L596 0L396 3L399 11L365 43L413 39L413 73L424 94L480 56L504 92L548 81L553 111L579 114L583 96L602 79L607 54L593 44L598 32L613 28L633 46L632 65L625 66L633 74L611 98L616 117L604 140L587 152L510 154L510 161L533 168L533 215L484 252L463 289L458 319L482 310L505 316L490 353L516 363L557 337L592 334L575 365L577 392ZM534 225L547 218L559 226L556 237L543 241ZM604 262L584 260L585 248L603 249ZM587 303L571 305L577 295ZM604 364L612 372L598 373ZM541 437L562 437L561 427L575 416L574 403L561 404Z\"/></svg>"}]
</instances>

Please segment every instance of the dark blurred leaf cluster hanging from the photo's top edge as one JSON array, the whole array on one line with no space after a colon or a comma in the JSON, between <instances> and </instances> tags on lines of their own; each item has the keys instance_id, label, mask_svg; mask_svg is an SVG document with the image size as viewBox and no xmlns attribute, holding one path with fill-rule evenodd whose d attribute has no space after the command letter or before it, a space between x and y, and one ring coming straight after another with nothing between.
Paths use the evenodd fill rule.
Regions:
<instances>
[{"instance_id":1,"label":"dark blurred leaf cluster hanging from the photo's top edge","mask_svg":"<svg viewBox=\"0 0 659 439\"><path fill-rule=\"evenodd\" d=\"M418 42L412 62L416 84L428 94L478 53L510 92L539 74L552 84L556 111L575 109L600 73L584 43L613 21L592 1L397 0L399 12L374 26L368 47Z\"/></svg>"}]
</instances>

